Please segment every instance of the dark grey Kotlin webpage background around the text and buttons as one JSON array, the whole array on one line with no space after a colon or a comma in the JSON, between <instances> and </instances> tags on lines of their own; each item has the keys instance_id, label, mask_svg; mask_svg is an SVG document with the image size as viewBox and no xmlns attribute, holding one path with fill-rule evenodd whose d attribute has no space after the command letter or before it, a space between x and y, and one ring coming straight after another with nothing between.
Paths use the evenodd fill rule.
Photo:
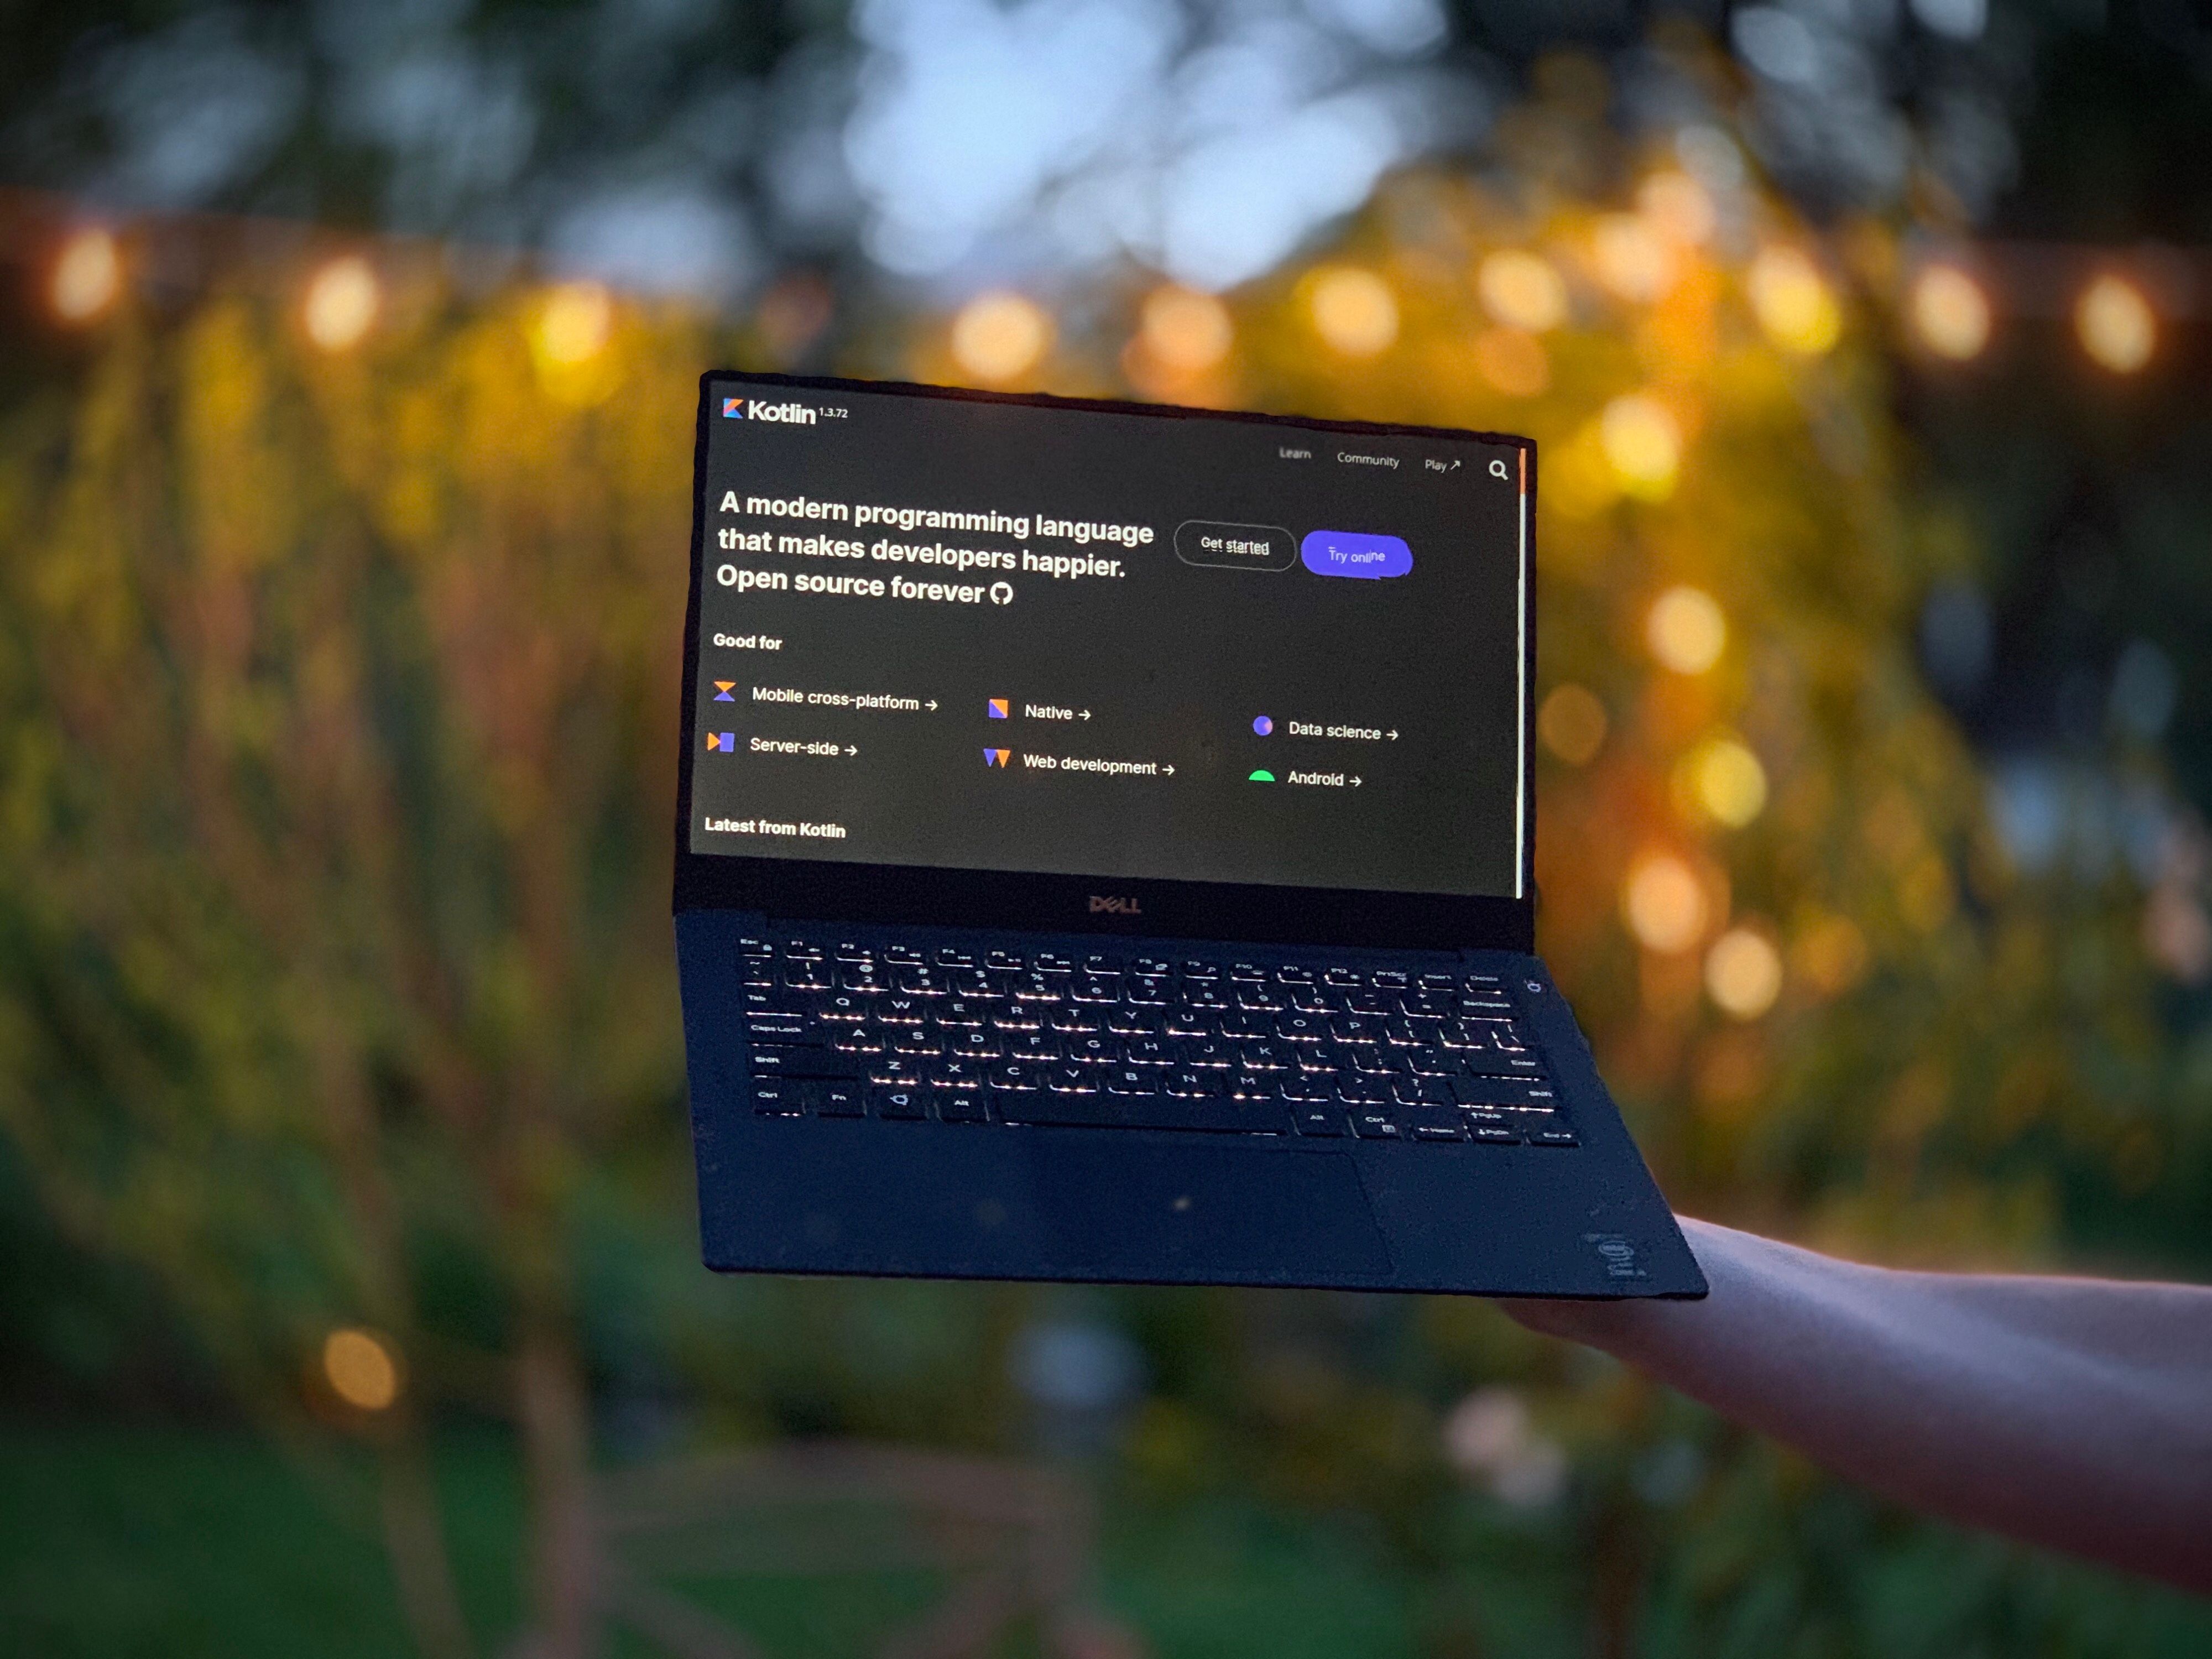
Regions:
<instances>
[{"instance_id":1,"label":"dark grey Kotlin webpage background around the text and buttons","mask_svg":"<svg viewBox=\"0 0 2212 1659\"><path fill-rule=\"evenodd\" d=\"M721 396L803 403L816 425L728 420ZM834 409L845 409L843 418ZM1283 449L1310 449L1287 460ZM1396 469L1338 453L1396 456ZM1438 473L1427 458L1460 467ZM1502 458L1511 478L1489 476ZM1115 416L865 392L717 383L708 405L706 571L692 832L699 854L823 858L1168 880L1517 896L1520 453L1473 440L1367 438L1201 418ZM726 513L721 500L991 511L1150 524L1150 546L1031 533L898 531ZM1186 520L1387 533L1402 577L1197 568ZM1124 575L958 573L874 557L723 551L734 526L874 544L945 542L1121 560ZM739 593L717 568L1009 582L998 606ZM779 650L717 646L768 635ZM734 703L714 701L730 679ZM757 701L754 688L936 699L933 712ZM1006 697L1013 719L989 719ZM1091 719L1024 719L1024 703ZM1267 714L1272 737L1252 719ZM1292 721L1398 739L1292 737ZM737 752L708 752L732 732ZM750 739L856 754L757 754ZM984 748L1011 750L987 768ZM1024 754L1172 765L1106 776ZM1276 783L1250 783L1267 768ZM1292 772L1343 774L1343 787ZM1360 783L1354 787L1352 776ZM734 823L834 823L845 838L739 834Z\"/></svg>"}]
</instances>

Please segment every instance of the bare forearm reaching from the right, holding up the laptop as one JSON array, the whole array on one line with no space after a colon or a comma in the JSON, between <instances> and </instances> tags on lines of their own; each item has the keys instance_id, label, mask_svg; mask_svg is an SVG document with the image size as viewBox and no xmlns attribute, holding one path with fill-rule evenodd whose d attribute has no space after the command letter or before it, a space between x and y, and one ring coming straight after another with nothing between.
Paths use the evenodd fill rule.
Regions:
<instances>
[{"instance_id":1,"label":"bare forearm reaching from the right, holding up the laptop","mask_svg":"<svg viewBox=\"0 0 2212 1659\"><path fill-rule=\"evenodd\" d=\"M1898 1274L1686 1230L1708 1301L1522 1316L1891 1498L2212 1590L2212 1290Z\"/></svg>"}]
</instances>

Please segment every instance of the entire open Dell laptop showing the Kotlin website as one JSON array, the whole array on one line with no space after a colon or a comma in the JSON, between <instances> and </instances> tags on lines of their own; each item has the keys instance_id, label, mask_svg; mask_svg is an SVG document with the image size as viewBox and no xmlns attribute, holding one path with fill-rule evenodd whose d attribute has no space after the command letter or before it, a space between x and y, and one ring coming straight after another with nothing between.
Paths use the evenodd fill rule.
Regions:
<instances>
[{"instance_id":1,"label":"entire open Dell laptop showing the Kotlin website","mask_svg":"<svg viewBox=\"0 0 2212 1659\"><path fill-rule=\"evenodd\" d=\"M1535 445L710 372L708 1267L1705 1281L1535 956Z\"/></svg>"}]
</instances>

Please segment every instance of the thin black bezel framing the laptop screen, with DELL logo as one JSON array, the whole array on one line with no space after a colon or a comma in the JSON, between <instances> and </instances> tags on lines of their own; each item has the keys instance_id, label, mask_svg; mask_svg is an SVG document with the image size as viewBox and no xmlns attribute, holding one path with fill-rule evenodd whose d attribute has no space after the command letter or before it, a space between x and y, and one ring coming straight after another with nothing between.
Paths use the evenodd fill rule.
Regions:
<instances>
[{"instance_id":1,"label":"thin black bezel framing the laptop screen, with DELL logo","mask_svg":"<svg viewBox=\"0 0 2212 1659\"><path fill-rule=\"evenodd\" d=\"M706 451L717 385L794 392L1013 403L1161 420L1237 420L1296 431L1367 438L1444 438L1522 451L1522 898L1400 894L1376 889L1261 883L1139 880L1015 869L949 869L821 858L748 858L690 849L692 765L697 763L699 608L706 573ZM1500 431L1416 427L1376 420L1323 420L1241 409L1186 409L1164 403L1062 398L1044 392L973 392L909 380L849 380L807 374L708 369L699 376L692 445L690 580L684 608L684 706L679 719L675 814L675 909L743 909L776 918L911 927L1004 927L1048 933L1133 933L1148 938L1250 940L1276 945L1354 945L1374 949L1535 949L1535 440Z\"/></svg>"}]
</instances>

